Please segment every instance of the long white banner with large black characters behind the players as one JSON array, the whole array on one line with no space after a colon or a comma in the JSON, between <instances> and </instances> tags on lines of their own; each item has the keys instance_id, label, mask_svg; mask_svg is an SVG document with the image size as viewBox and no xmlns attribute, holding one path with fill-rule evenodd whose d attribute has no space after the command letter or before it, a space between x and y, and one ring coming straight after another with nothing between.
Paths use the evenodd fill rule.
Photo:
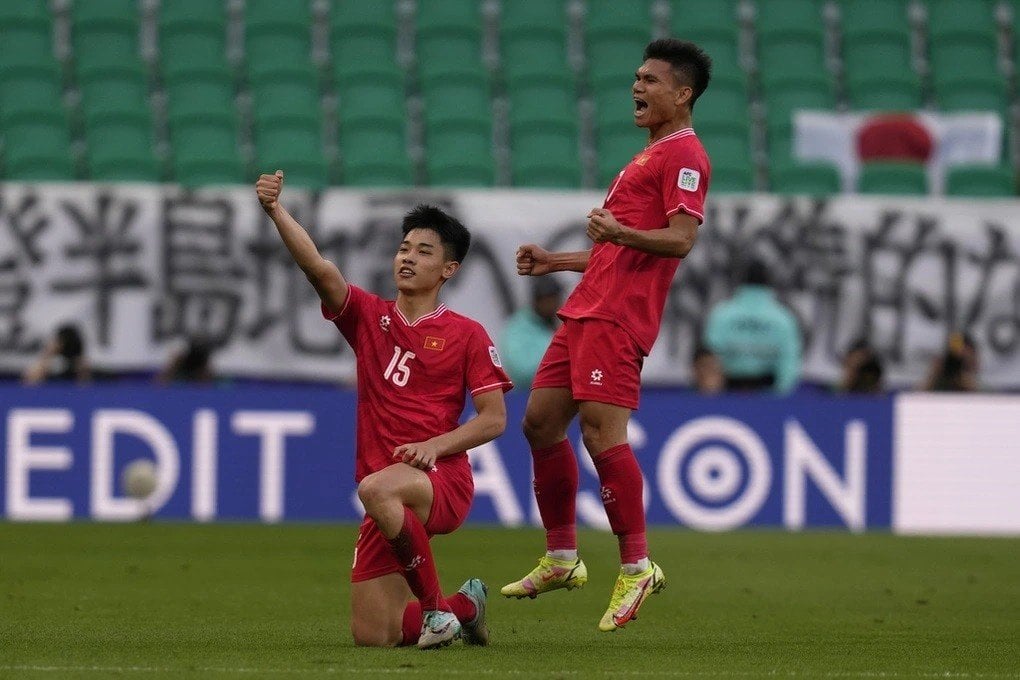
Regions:
<instances>
[{"instance_id":1,"label":"long white banner with large black characters behind the players","mask_svg":"<svg viewBox=\"0 0 1020 680\"><path fill-rule=\"evenodd\" d=\"M595 192L285 190L284 203L348 279L389 296L400 218L419 202L473 234L443 297L495 337L528 304L514 253L536 242L580 250ZM987 388L1020 387L1020 202L711 198L681 264L648 384L685 383L706 315L754 254L771 264L805 339L804 377L832 382L867 337L888 384L918 383L951 330L979 348ZM576 275L561 274L572 284ZM354 363L321 320L254 191L143 185L0 185L0 369L23 368L63 322L95 366L155 370L185 337L216 347L221 373L349 380Z\"/></svg>"}]
</instances>

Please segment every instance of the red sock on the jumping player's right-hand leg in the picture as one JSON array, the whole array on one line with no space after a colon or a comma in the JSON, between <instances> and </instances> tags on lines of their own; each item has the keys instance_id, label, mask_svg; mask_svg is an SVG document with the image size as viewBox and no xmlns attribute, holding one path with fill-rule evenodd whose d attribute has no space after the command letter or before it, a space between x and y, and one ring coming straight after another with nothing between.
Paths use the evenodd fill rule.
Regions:
<instances>
[{"instance_id":1,"label":"red sock on the jumping player's right-hand leg in the picture","mask_svg":"<svg viewBox=\"0 0 1020 680\"><path fill-rule=\"evenodd\" d=\"M595 469L602 482L602 504L609 516L609 526L620 542L620 563L634 564L648 557L644 482L638 459L630 444L621 443L599 454Z\"/></svg>"}]
</instances>

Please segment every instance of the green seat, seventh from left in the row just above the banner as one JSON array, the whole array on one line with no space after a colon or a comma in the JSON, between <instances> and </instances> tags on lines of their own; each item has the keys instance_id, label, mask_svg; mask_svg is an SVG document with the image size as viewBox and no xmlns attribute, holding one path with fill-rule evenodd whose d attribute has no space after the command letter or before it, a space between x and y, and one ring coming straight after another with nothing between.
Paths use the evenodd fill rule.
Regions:
<instances>
[{"instance_id":1,"label":"green seat, seventh from left in the row just above the banner","mask_svg":"<svg viewBox=\"0 0 1020 680\"><path fill-rule=\"evenodd\" d=\"M514 187L580 186L577 138L538 125L515 130L510 138L510 174Z\"/></svg>"}]
</instances>

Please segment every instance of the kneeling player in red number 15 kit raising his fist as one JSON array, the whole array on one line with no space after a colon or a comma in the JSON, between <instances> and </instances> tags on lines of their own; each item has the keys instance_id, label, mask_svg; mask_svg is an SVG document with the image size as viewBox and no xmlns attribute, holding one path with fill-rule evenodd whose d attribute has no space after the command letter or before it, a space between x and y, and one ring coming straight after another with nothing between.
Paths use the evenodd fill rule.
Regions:
<instances>
[{"instance_id":1,"label":"kneeling player in red number 15 kit raising his fist","mask_svg":"<svg viewBox=\"0 0 1020 680\"><path fill-rule=\"evenodd\" d=\"M467 517L474 484L465 452L503 432L512 386L481 325L439 302L470 233L439 208L407 213L393 261L397 300L385 301L322 258L279 204L283 184L279 170L261 175L259 202L357 358L355 478L365 519L351 574L354 641L427 649L463 632L465 642L486 644L484 584L472 578L444 596L428 543ZM477 415L458 425L467 391Z\"/></svg>"}]
</instances>

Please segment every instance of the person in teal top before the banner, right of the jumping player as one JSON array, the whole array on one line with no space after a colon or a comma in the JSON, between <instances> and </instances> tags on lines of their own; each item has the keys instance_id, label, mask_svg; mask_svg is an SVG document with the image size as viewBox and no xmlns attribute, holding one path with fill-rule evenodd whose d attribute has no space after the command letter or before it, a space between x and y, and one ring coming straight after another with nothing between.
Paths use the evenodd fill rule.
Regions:
<instances>
[{"instance_id":1,"label":"person in teal top before the banner, right of the jumping player","mask_svg":"<svg viewBox=\"0 0 1020 680\"><path fill-rule=\"evenodd\" d=\"M797 387L800 329L776 300L764 262L751 261L733 296L709 313L705 345L722 362L728 390L785 395Z\"/></svg>"}]
</instances>

